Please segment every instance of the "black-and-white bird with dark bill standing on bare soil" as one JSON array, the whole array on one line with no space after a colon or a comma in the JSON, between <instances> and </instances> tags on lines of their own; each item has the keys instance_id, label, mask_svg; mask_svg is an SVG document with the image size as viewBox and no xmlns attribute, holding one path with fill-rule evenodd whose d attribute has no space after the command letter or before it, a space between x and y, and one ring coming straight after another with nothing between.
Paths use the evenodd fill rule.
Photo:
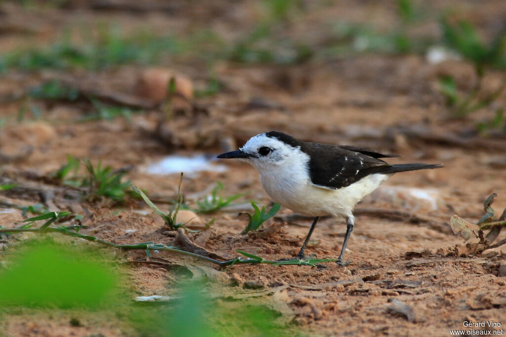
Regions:
<instances>
[{"instance_id":1,"label":"black-and-white bird with dark bill standing on bare soil","mask_svg":"<svg viewBox=\"0 0 506 337\"><path fill-rule=\"evenodd\" d=\"M305 142L279 131L257 134L237 151L218 156L238 159L260 173L267 194L282 206L314 217L300 252L294 258L305 259L311 234L324 215L346 219L346 234L338 265L346 266L344 254L355 226L353 209L392 174L436 169L442 164L391 165L380 158L399 157L355 146Z\"/></svg>"}]
</instances>

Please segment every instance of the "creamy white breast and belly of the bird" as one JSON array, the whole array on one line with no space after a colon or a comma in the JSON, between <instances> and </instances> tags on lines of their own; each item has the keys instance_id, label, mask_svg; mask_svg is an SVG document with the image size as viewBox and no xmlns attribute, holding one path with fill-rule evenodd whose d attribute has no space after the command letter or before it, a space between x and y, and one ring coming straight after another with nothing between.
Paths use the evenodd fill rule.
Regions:
<instances>
[{"instance_id":1,"label":"creamy white breast and belly of the bird","mask_svg":"<svg viewBox=\"0 0 506 337\"><path fill-rule=\"evenodd\" d=\"M310 216L331 214L349 217L353 215L355 205L388 177L387 174L375 173L339 189L318 187L308 180L295 180L290 175L261 174L260 179L274 201L294 212Z\"/></svg>"}]
</instances>

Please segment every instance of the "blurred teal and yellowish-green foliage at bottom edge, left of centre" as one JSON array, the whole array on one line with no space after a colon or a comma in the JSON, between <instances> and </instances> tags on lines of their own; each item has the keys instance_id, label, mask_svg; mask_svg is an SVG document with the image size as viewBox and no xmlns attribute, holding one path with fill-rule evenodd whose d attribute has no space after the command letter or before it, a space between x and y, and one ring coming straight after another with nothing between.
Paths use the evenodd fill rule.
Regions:
<instances>
[{"instance_id":1,"label":"blurred teal and yellowish-green foliage at bottom edge, left of centre","mask_svg":"<svg viewBox=\"0 0 506 337\"><path fill-rule=\"evenodd\" d=\"M174 302L159 309L145 307L131 313L136 328L153 336L289 336L276 319L281 315L247 300L217 301L207 295L205 283L190 282ZM149 313L152 314L149 314Z\"/></svg>"}]
</instances>

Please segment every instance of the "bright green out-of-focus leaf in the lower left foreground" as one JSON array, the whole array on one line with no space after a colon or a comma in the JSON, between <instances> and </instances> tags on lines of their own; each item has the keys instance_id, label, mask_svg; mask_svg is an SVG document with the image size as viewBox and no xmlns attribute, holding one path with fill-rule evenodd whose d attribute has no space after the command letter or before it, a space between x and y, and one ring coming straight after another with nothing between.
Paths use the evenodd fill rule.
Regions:
<instances>
[{"instance_id":1,"label":"bright green out-of-focus leaf in the lower left foreground","mask_svg":"<svg viewBox=\"0 0 506 337\"><path fill-rule=\"evenodd\" d=\"M101 307L112 300L117 275L96 253L33 242L0 269L0 304L25 307Z\"/></svg>"}]
</instances>

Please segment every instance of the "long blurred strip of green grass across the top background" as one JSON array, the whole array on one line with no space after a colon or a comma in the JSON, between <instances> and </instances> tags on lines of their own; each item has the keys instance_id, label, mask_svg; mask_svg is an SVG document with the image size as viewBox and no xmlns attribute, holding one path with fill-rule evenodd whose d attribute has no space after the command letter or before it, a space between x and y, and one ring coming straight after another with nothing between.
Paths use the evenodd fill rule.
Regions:
<instances>
[{"instance_id":1,"label":"long blurred strip of green grass across the top background","mask_svg":"<svg viewBox=\"0 0 506 337\"><path fill-rule=\"evenodd\" d=\"M47 48L33 47L0 56L0 70L101 70L123 64L156 64L168 57L179 57L184 62L203 61L211 68L218 60L296 64L343 52L423 53L433 42L430 38L411 38L406 33L425 17L421 6L415 6L412 0L398 0L399 24L386 32L367 24L342 21L336 25L334 36L327 30L329 36L324 41L287 34L290 25L308 15L308 6L302 0L260 1L256 8L257 22L232 40L205 28L179 35L138 31L126 36L113 24L103 24L98 34L92 34L90 28L81 29L85 42L75 42L70 38L75 29L68 30Z\"/></svg>"}]
</instances>

